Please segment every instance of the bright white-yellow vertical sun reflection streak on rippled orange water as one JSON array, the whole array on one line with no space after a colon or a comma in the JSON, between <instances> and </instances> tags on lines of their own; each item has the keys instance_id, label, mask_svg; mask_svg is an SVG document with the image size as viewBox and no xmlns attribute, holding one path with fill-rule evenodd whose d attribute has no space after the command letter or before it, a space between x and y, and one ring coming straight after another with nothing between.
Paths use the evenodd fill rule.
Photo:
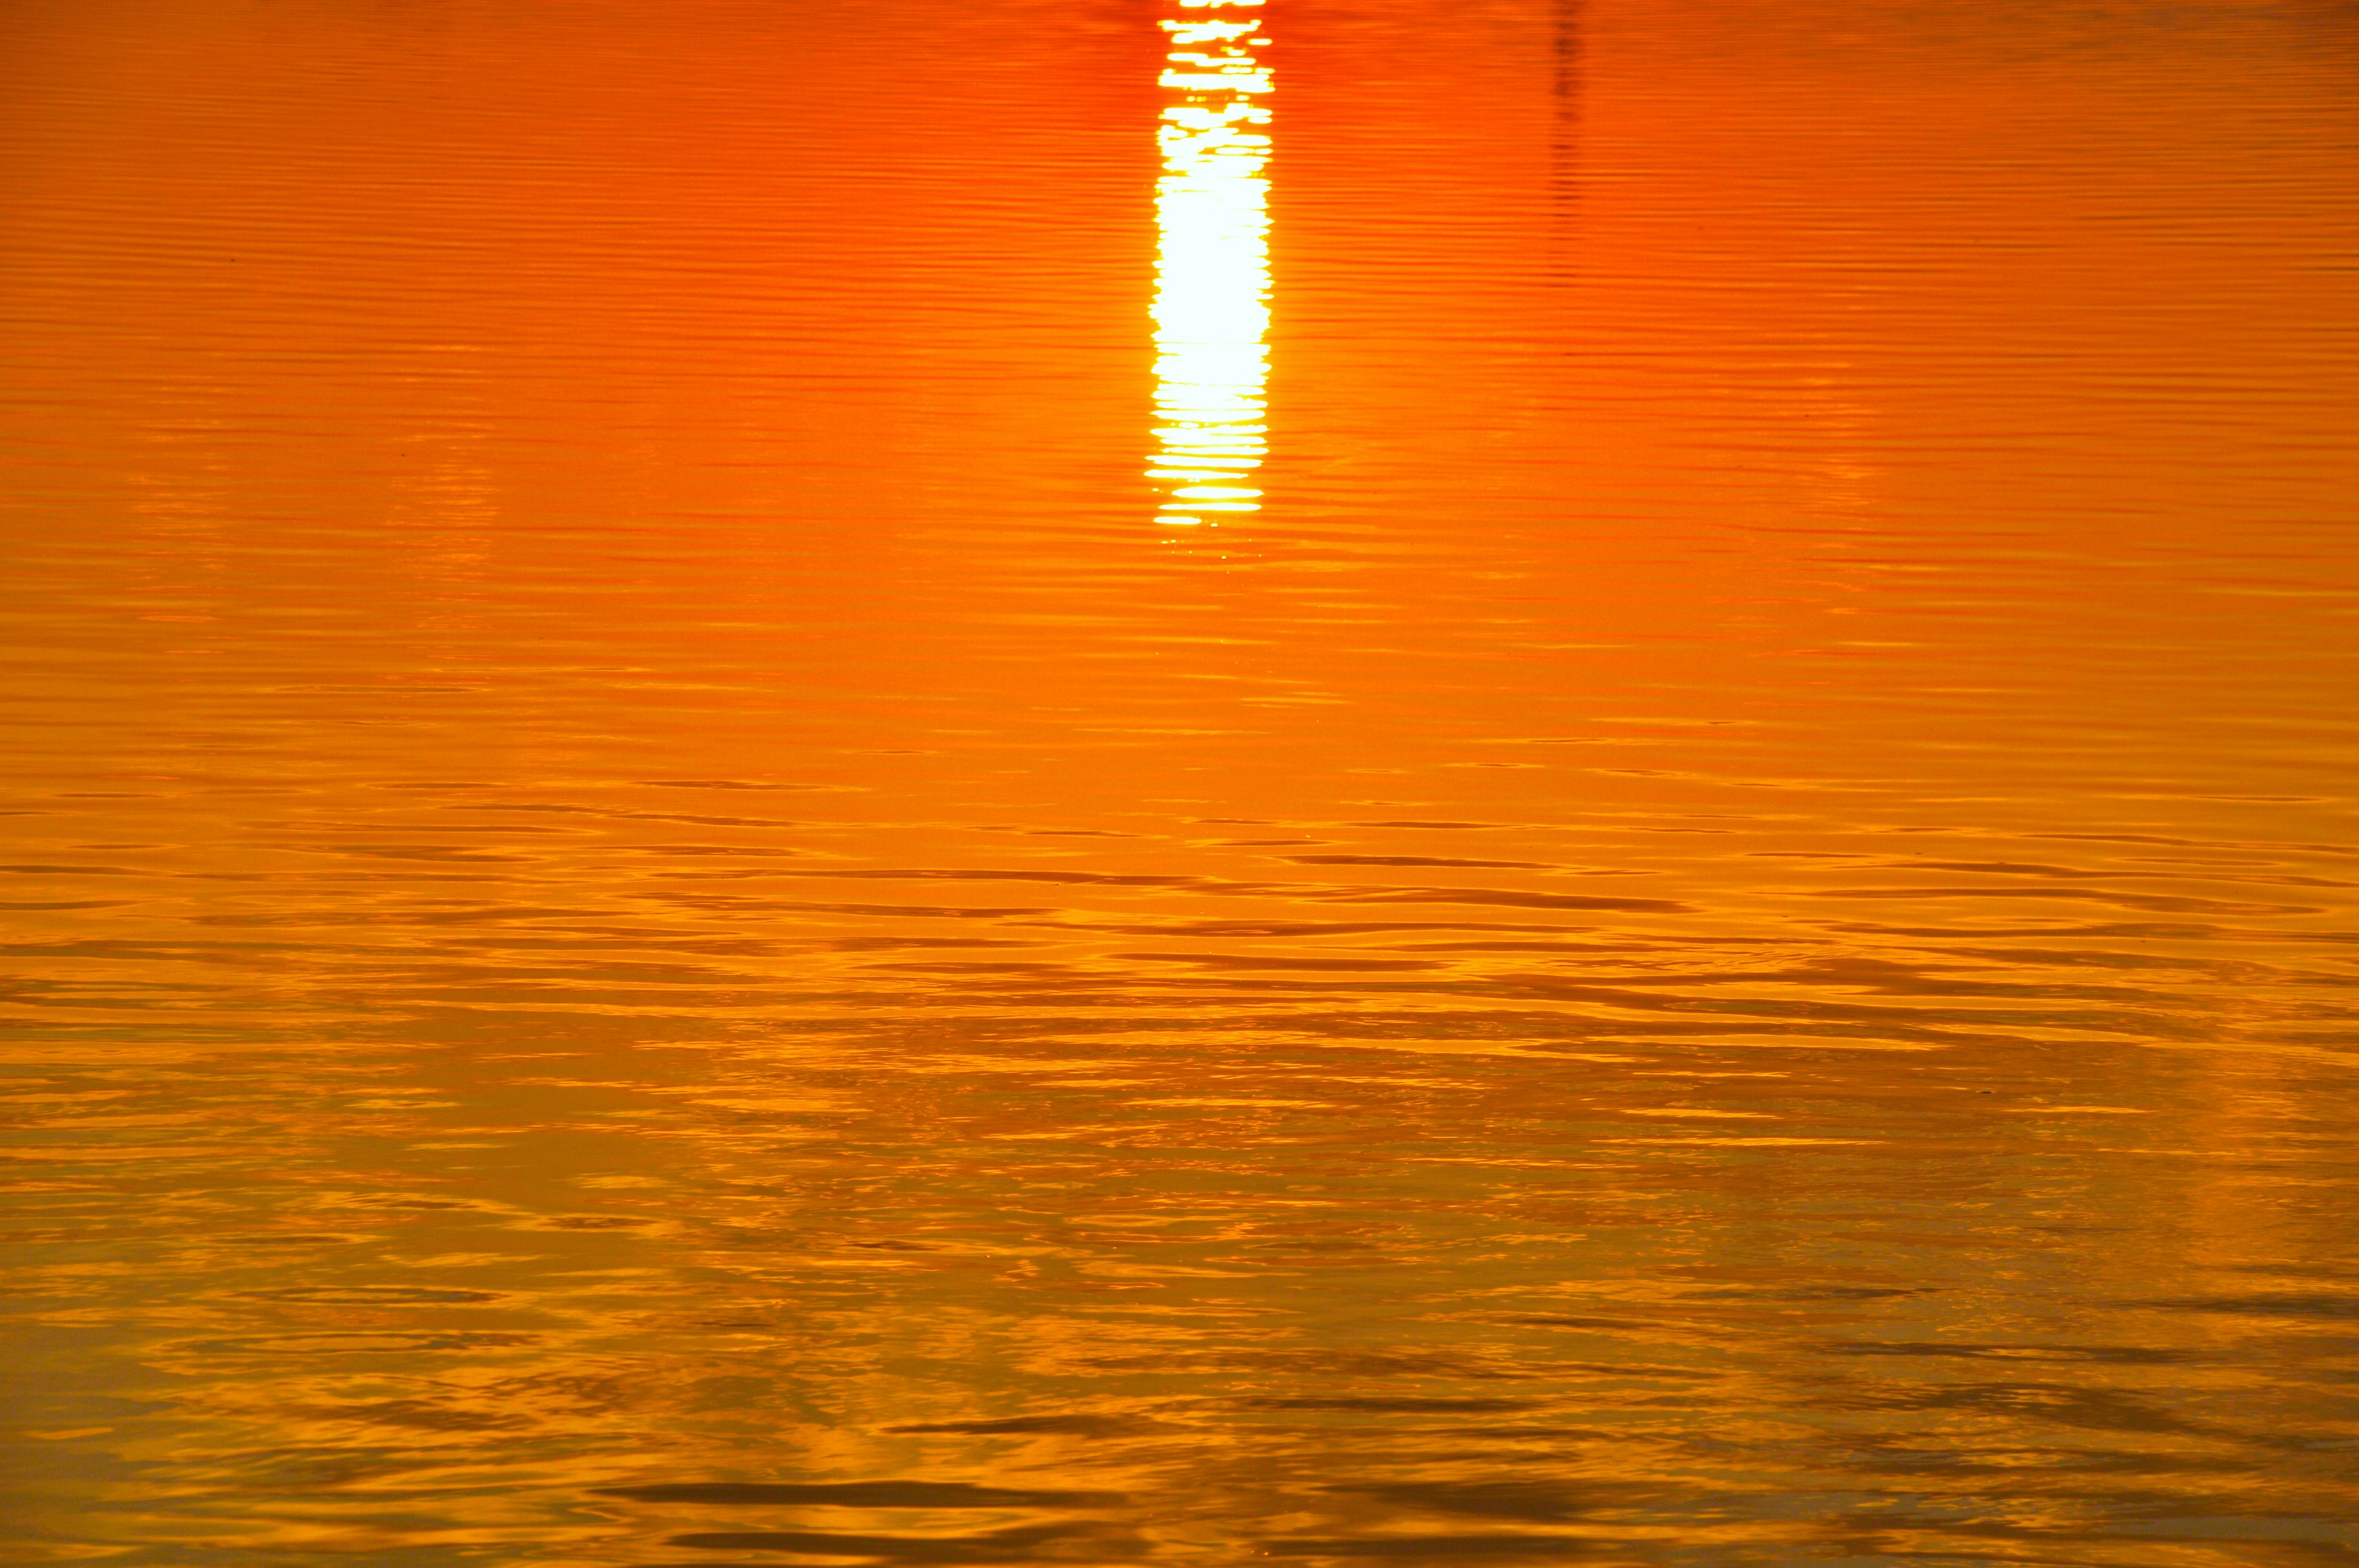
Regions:
<instances>
[{"instance_id":1,"label":"bright white-yellow vertical sun reflection streak on rippled orange water","mask_svg":"<svg viewBox=\"0 0 2359 1568\"><path fill-rule=\"evenodd\" d=\"M1262 0L1177 0L1163 21L1156 184L1156 455L1165 526L1260 512L1269 450L1269 68Z\"/></svg>"}]
</instances>

